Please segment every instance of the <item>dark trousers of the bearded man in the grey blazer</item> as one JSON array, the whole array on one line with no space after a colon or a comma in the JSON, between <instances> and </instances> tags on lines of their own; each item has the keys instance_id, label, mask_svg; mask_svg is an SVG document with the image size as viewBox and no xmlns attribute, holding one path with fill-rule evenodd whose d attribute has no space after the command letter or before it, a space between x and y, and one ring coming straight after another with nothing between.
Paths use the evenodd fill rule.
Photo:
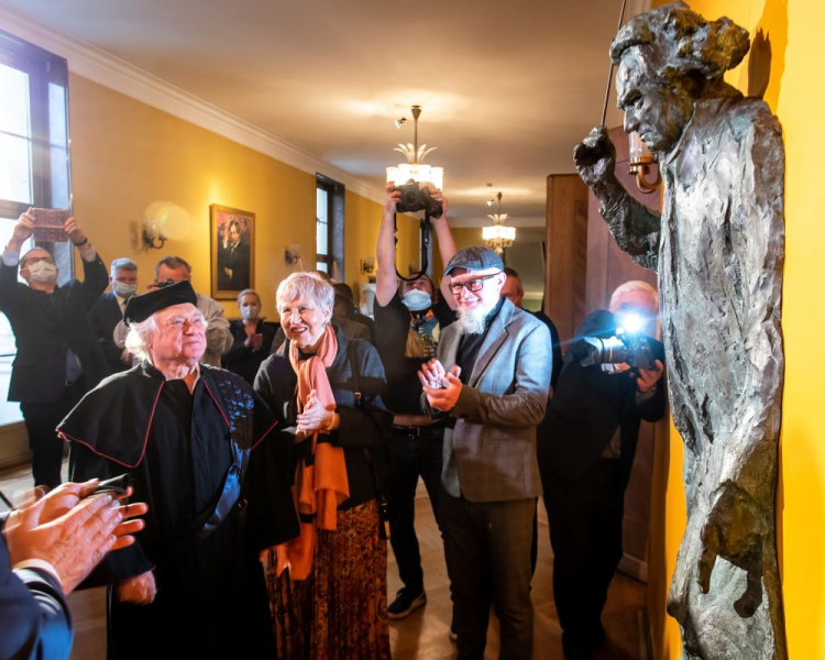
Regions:
<instances>
[{"instance_id":1,"label":"dark trousers of the bearded man in the grey blazer","mask_svg":"<svg viewBox=\"0 0 825 660\"><path fill-rule=\"evenodd\" d=\"M499 658L532 657L530 547L536 499L468 502L441 491L441 525L459 658L484 658L493 601Z\"/></svg>"}]
</instances>

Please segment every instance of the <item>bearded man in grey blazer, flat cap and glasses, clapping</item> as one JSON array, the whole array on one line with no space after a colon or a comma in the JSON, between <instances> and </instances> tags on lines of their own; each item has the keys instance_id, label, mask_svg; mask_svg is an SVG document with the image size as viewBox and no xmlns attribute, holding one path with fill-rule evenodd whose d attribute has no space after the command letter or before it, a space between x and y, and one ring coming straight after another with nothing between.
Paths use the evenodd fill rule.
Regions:
<instances>
[{"instance_id":1,"label":"bearded man in grey blazer, flat cap and glasses, clapping","mask_svg":"<svg viewBox=\"0 0 825 660\"><path fill-rule=\"evenodd\" d=\"M486 248L458 252L444 276L459 319L419 377L422 405L447 417L440 517L459 658L483 658L491 598L501 658L532 657L530 547L536 425L544 416L552 346L547 327L501 297L507 276Z\"/></svg>"}]
</instances>

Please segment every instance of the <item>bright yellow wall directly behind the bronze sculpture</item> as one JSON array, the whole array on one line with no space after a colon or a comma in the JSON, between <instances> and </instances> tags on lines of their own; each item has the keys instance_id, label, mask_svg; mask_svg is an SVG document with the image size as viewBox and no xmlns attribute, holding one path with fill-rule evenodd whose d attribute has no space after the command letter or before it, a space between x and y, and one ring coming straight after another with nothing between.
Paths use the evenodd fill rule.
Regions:
<instances>
[{"instance_id":1,"label":"bright yellow wall directly behind the bronze sculpture","mask_svg":"<svg viewBox=\"0 0 825 660\"><path fill-rule=\"evenodd\" d=\"M659 2L661 4L661 2ZM777 526L783 580L785 625L791 658L825 658L825 406L822 361L812 346L822 343L825 305L821 299L825 223L822 221L822 167L825 144L825 3L804 0L693 0L707 19L727 15L751 36L761 29L771 43L771 81L766 100L777 113L785 140L785 270L782 328L785 384L782 404ZM747 61L728 81L747 90ZM682 448L672 430L669 485L664 499L664 570L672 573L684 528ZM652 604L652 598L651 598ZM659 658L678 658L676 626L669 619L657 646Z\"/></svg>"}]
</instances>

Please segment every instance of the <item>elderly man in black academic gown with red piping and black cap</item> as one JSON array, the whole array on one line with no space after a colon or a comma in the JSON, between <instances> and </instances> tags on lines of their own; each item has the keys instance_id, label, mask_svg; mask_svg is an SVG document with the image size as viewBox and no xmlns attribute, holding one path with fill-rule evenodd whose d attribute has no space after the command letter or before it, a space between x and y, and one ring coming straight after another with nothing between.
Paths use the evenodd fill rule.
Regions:
<instances>
[{"instance_id":1,"label":"elderly man in black academic gown with red piping and black cap","mask_svg":"<svg viewBox=\"0 0 825 660\"><path fill-rule=\"evenodd\" d=\"M243 378L198 363L196 304L186 280L133 297L127 348L143 362L58 429L73 479L128 472L150 505L140 541L92 574L110 585L113 658L260 656L272 625L255 558L298 535L290 437Z\"/></svg>"}]
</instances>

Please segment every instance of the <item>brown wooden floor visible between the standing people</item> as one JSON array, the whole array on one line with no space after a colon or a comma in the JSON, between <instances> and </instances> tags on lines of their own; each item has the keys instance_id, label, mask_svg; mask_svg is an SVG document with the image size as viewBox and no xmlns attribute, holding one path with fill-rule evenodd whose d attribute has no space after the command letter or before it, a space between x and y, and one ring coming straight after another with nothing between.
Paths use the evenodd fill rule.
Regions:
<instances>
[{"instance_id":1,"label":"brown wooden floor visible between the standing people","mask_svg":"<svg viewBox=\"0 0 825 660\"><path fill-rule=\"evenodd\" d=\"M12 495L31 486L28 468L0 473L0 490ZM0 512L4 510L0 503ZM402 622L391 622L389 639L393 657L397 660L440 660L455 657L455 647L449 639L451 620L450 583L444 566L441 536L432 516L430 503L422 487L416 501L418 539L425 571L427 605ZM400 587L398 571L392 550L388 557L387 592L389 601ZM537 659L562 659L561 629L552 597L552 551L548 535L547 514L539 503L539 561L532 581L532 603L536 613ZM600 660L647 660L640 631L645 585L622 573L610 585L603 623L607 631L605 646L596 653ZM105 591L102 588L78 592L69 596L75 619L75 646L72 658L76 660L103 660L106 658ZM485 658L498 657L498 627L491 616ZM367 660L367 659L358 659Z\"/></svg>"}]
</instances>

